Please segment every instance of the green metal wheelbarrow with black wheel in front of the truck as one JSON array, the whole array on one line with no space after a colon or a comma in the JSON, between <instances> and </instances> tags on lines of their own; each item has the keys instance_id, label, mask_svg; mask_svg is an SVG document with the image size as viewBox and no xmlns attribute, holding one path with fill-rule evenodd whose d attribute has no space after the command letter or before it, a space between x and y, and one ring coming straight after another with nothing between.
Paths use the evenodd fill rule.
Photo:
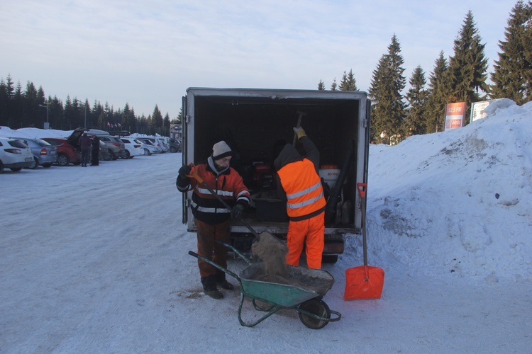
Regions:
<instances>
[{"instance_id":1,"label":"green metal wheelbarrow with black wheel in front of the truck","mask_svg":"<svg viewBox=\"0 0 532 354\"><path fill-rule=\"evenodd\" d=\"M189 251L189 255L214 265L216 268L223 270L223 272L238 280L240 285L238 321L240 321L240 325L253 327L280 309L295 309L299 313L301 322L309 327L309 329L322 329L329 322L340 320L342 315L339 312L329 309L327 304L322 300L322 297L326 295L328 290L331 290L334 283L333 276L325 270L307 269L289 265L288 275L286 277L291 280L289 283L284 284L282 282L260 280L264 279L265 276L264 263L251 263L248 258L243 256L233 246L228 244L223 245L233 249L238 256L242 257L248 263L248 268L242 270L240 275L236 275L231 270L223 268L193 251ZM245 297L249 297L252 300L255 309L267 313L257 321L250 323L243 321L242 305ZM262 302L266 306L257 302ZM331 314L335 316L331 318Z\"/></svg>"}]
</instances>

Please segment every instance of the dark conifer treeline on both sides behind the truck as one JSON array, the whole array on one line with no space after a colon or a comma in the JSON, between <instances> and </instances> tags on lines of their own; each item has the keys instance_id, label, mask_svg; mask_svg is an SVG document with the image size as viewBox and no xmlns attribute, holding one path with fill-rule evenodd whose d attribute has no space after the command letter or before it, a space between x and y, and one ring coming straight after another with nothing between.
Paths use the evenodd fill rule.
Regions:
<instances>
[{"instance_id":1,"label":"dark conifer treeline on both sides behind the truck","mask_svg":"<svg viewBox=\"0 0 532 354\"><path fill-rule=\"evenodd\" d=\"M487 84L488 59L484 55L485 44L478 33L472 11L468 11L462 28L454 40L454 53L445 57L443 51L436 58L433 72L426 77L421 66L416 67L406 88L404 59L396 35L387 52L382 55L372 72L368 93L372 101L371 141L397 144L406 137L440 132L445 124L445 105L465 102L465 124L470 116L471 103L495 98L510 98L518 105L531 101L532 97L532 0L517 1L509 13L504 40L499 40L499 58L492 84ZM319 90L325 90L323 81ZM358 91L353 70L343 72L339 84L336 79L331 90ZM43 127L45 122L58 130L87 127L101 130L128 130L141 134L169 135L170 120L155 105L153 113L145 117L135 115L128 103L114 110L108 103L89 103L67 96L65 102L57 96L45 97L28 81L23 88L20 82L13 84L10 75L0 81L0 125L12 129Z\"/></svg>"}]
</instances>

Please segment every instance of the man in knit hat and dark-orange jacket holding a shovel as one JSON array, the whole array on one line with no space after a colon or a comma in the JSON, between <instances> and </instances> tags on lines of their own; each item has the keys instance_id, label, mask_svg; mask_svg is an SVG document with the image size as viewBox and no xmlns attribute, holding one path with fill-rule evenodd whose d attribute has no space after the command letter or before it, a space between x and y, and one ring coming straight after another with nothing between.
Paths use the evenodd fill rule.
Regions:
<instances>
[{"instance_id":1,"label":"man in knit hat and dark-orange jacket holding a shovel","mask_svg":"<svg viewBox=\"0 0 532 354\"><path fill-rule=\"evenodd\" d=\"M192 214L196 218L198 254L227 268L227 249L218 244L230 241L229 222L231 217L240 219L243 211L250 203L250 192L244 185L242 177L229 166L233 152L226 142L214 144L213 152L206 162L194 166L182 166L177 176L177 189L185 193L192 190ZM197 174L206 185L224 200L231 210L211 194L208 188L190 178L191 173ZM214 265L198 258L199 275L206 295L213 299L222 299L223 289L233 290L233 285L226 280L226 273Z\"/></svg>"}]
</instances>

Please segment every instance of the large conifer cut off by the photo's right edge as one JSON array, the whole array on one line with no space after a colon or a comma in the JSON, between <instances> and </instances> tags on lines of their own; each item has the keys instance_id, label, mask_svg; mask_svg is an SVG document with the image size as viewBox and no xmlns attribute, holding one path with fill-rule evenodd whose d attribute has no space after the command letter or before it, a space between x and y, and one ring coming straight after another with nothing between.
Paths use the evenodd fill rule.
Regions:
<instances>
[{"instance_id":1,"label":"large conifer cut off by the photo's right edge","mask_svg":"<svg viewBox=\"0 0 532 354\"><path fill-rule=\"evenodd\" d=\"M499 41L501 52L491 74L492 98L510 98L518 105L532 99L531 18L532 1L525 5L519 0L511 10L505 40Z\"/></svg>"}]
</instances>

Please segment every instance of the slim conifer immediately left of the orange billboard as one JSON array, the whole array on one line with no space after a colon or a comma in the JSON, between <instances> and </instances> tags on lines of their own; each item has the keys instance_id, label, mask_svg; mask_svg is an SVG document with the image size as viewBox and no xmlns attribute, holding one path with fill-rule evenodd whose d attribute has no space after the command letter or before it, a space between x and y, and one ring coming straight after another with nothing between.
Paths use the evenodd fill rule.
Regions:
<instances>
[{"instance_id":1,"label":"slim conifer immediately left of the orange billboard","mask_svg":"<svg viewBox=\"0 0 532 354\"><path fill-rule=\"evenodd\" d=\"M434 64L434 71L429 76L425 119L426 134L443 131L445 104L447 103L447 94L445 92L445 72L447 72L447 69L447 59L445 59L443 51L441 51Z\"/></svg>"}]
</instances>

